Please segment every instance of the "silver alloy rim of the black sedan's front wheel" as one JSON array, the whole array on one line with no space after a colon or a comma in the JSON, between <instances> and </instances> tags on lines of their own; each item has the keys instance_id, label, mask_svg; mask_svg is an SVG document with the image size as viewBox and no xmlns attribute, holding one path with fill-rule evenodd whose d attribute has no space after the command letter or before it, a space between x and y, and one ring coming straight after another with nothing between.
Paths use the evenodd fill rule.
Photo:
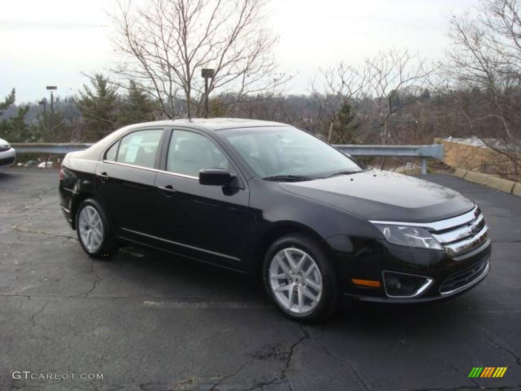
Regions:
<instances>
[{"instance_id":1,"label":"silver alloy rim of the black sedan's front wheel","mask_svg":"<svg viewBox=\"0 0 521 391\"><path fill-rule=\"evenodd\" d=\"M300 315L312 312L322 296L322 274L317 263L296 248L282 249L271 259L269 285L284 309Z\"/></svg>"}]
</instances>

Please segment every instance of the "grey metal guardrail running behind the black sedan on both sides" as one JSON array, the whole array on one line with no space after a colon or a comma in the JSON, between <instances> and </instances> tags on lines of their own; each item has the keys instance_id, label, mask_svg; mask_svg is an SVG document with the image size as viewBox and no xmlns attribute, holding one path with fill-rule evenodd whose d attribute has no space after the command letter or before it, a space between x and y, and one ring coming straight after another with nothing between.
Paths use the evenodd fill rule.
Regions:
<instances>
[{"instance_id":1,"label":"grey metal guardrail running behind the black sedan on both sides","mask_svg":"<svg viewBox=\"0 0 521 391\"><path fill-rule=\"evenodd\" d=\"M82 151L92 144L74 143L21 143L11 144L20 153L57 153L65 154L73 151ZM333 145L343 153L353 156L392 156L392 157L419 157L421 159L421 173L427 174L427 160L443 159L443 145Z\"/></svg>"}]
</instances>

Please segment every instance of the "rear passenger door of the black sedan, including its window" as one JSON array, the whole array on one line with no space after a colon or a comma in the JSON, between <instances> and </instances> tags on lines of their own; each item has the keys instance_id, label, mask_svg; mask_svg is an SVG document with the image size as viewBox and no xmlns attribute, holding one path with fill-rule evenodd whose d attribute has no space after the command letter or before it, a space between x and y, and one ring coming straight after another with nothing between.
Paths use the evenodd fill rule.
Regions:
<instances>
[{"instance_id":1,"label":"rear passenger door of the black sedan, including its window","mask_svg":"<svg viewBox=\"0 0 521 391\"><path fill-rule=\"evenodd\" d=\"M128 133L96 166L95 189L118 235L147 242L153 232L155 177L163 129Z\"/></svg>"}]
</instances>

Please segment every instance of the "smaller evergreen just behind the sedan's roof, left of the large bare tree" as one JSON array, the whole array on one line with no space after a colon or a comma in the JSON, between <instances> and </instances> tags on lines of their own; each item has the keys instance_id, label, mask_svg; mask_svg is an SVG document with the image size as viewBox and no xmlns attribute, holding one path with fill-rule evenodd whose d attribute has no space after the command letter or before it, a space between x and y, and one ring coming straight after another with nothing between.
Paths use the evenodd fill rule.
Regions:
<instances>
[{"instance_id":1,"label":"smaller evergreen just behind the sedan's roof, left of the large bare tree","mask_svg":"<svg viewBox=\"0 0 521 391\"><path fill-rule=\"evenodd\" d=\"M154 120L154 103L135 81L130 80L128 96L121 103L118 113L118 126L152 120Z\"/></svg>"}]
</instances>

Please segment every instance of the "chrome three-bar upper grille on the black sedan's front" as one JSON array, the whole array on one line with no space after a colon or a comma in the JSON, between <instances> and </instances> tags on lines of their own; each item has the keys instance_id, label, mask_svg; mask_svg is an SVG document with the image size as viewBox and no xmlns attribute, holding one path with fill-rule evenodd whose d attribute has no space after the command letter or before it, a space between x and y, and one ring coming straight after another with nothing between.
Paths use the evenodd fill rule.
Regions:
<instances>
[{"instance_id":1,"label":"chrome three-bar upper grille on the black sedan's front","mask_svg":"<svg viewBox=\"0 0 521 391\"><path fill-rule=\"evenodd\" d=\"M450 256L470 252L488 238L488 226L477 206L463 215L427 225Z\"/></svg>"}]
</instances>

